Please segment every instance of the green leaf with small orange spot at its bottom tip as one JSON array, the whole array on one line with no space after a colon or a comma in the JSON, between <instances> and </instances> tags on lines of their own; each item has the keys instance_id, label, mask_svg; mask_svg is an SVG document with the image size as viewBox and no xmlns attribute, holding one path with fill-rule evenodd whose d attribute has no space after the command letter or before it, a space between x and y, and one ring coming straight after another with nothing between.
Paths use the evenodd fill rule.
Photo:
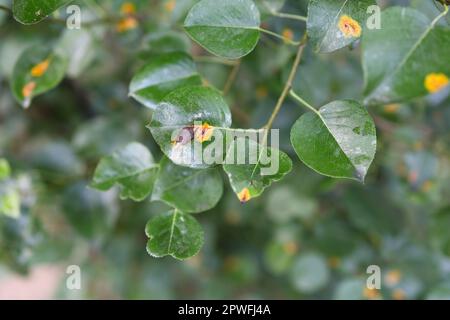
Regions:
<instances>
[{"instance_id":1,"label":"green leaf with small orange spot at its bottom tip","mask_svg":"<svg viewBox=\"0 0 450 320\"><path fill-rule=\"evenodd\" d=\"M242 150L245 150L246 159L238 161ZM292 161L282 151L262 147L251 139L237 138L228 148L223 169L239 200L247 202L288 174Z\"/></svg>"}]
</instances>

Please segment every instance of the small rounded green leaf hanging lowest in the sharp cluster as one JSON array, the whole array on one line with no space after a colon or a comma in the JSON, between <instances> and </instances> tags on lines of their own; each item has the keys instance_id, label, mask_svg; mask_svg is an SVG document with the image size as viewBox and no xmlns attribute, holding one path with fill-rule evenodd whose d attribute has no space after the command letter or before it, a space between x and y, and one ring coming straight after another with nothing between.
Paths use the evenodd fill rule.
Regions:
<instances>
[{"instance_id":1,"label":"small rounded green leaf hanging lowest in the sharp cluster","mask_svg":"<svg viewBox=\"0 0 450 320\"><path fill-rule=\"evenodd\" d=\"M147 223L147 252L157 258L167 255L184 260L203 246L204 234L197 220L178 210L158 215Z\"/></svg>"}]
</instances>

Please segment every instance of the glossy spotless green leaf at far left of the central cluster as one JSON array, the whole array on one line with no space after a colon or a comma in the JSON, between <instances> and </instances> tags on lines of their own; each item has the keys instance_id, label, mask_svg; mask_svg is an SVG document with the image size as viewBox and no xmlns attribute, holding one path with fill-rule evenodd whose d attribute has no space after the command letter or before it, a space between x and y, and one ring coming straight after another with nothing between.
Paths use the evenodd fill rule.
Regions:
<instances>
[{"instance_id":1,"label":"glossy spotless green leaf at far left of the central cluster","mask_svg":"<svg viewBox=\"0 0 450 320\"><path fill-rule=\"evenodd\" d=\"M122 190L122 199L142 201L152 192L157 172L158 165L150 151L142 144L132 142L100 161L91 187L105 191L117 183Z\"/></svg>"}]
</instances>

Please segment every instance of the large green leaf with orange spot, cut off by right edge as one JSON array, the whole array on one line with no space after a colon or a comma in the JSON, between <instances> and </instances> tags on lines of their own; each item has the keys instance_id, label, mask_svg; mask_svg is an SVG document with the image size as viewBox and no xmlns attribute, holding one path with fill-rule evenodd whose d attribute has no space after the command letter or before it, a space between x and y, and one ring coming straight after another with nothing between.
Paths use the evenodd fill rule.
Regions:
<instances>
[{"instance_id":1,"label":"large green leaf with orange spot, cut off by right edge","mask_svg":"<svg viewBox=\"0 0 450 320\"><path fill-rule=\"evenodd\" d=\"M410 100L448 84L450 29L435 26L438 20L410 8L382 12L383 27L362 41L366 103Z\"/></svg>"}]
</instances>

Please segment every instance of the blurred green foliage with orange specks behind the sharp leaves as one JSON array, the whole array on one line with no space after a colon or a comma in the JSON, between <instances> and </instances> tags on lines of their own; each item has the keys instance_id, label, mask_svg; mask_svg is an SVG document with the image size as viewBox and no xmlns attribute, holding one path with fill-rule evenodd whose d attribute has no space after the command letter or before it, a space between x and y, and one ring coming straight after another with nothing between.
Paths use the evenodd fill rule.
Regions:
<instances>
[{"instance_id":1,"label":"blurred green foliage with orange specks behind the sharp leaves","mask_svg":"<svg viewBox=\"0 0 450 320\"><path fill-rule=\"evenodd\" d=\"M84 21L117 16L123 2L75 1ZM134 72L158 53L206 53L180 27L195 0L132 2L139 24L129 30L111 23L67 30L55 23L65 10L34 26L0 12L0 158L11 166L0 194L14 190L21 199L17 218L0 213L0 280L41 264L63 270L76 264L82 290L67 290L63 277L55 297L450 299L449 90L369 109L379 146L365 185L320 176L300 163L289 130L303 110L287 101L274 127L281 129L281 149L295 159L289 176L245 205L225 184L219 205L197 216L206 236L199 255L184 262L150 257L144 227L165 205L120 201L117 190L100 193L87 184L98 159L130 141L161 156L145 128L151 112L127 96ZM307 2L289 0L282 11L305 15ZM379 4L438 13L431 0ZM305 28L268 15L264 24L295 39ZM70 52L70 72L24 110L9 79L20 53L36 43ZM243 59L226 97L236 126L267 120L293 50L264 36ZM308 50L295 90L315 106L360 100L359 51L358 45L329 55ZM231 70L209 61L198 67L218 88ZM381 290L365 289L369 265L381 268Z\"/></svg>"}]
</instances>

